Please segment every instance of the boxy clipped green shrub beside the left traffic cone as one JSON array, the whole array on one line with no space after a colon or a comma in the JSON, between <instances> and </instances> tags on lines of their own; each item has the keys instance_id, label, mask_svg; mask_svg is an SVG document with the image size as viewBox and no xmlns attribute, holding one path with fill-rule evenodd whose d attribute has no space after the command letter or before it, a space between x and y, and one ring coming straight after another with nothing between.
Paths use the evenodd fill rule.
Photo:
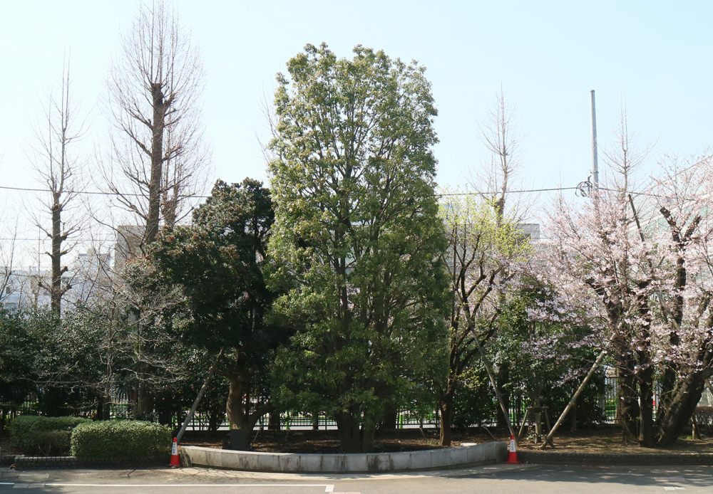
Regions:
<instances>
[{"instance_id":1,"label":"boxy clipped green shrub beside the left traffic cone","mask_svg":"<svg viewBox=\"0 0 713 494\"><path fill-rule=\"evenodd\" d=\"M161 458L170 453L171 441L168 426L133 420L91 422L74 429L71 452L92 460Z\"/></svg>"}]
</instances>

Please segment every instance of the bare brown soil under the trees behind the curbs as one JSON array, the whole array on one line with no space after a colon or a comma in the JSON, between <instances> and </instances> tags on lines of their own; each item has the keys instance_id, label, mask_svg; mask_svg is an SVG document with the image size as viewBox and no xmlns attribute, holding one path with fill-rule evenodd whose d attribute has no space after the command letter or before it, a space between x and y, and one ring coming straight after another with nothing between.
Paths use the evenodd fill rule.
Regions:
<instances>
[{"instance_id":1,"label":"bare brown soil under the trees behind the curbs","mask_svg":"<svg viewBox=\"0 0 713 494\"><path fill-rule=\"evenodd\" d=\"M679 438L670 448L642 448L635 443L622 441L621 429L606 427L586 431L562 431L554 438L555 448L545 451L567 451L570 453L713 453L712 434L702 439L691 439L690 436ZM497 441L510 441L510 436L504 431L491 429ZM203 446L207 448L222 448L226 433L186 433L183 445ZM486 443L493 441L483 429L468 432L453 432L451 446L461 443ZM377 453L396 451L418 451L441 448L438 444L438 431L426 429L401 429L397 431L382 431L377 433L374 441L374 451ZM535 444L527 438L519 443L521 450L539 450L540 444ZM252 451L276 453L337 453L339 438L334 431L294 431L273 436L270 432L261 431L252 445Z\"/></svg>"}]
</instances>

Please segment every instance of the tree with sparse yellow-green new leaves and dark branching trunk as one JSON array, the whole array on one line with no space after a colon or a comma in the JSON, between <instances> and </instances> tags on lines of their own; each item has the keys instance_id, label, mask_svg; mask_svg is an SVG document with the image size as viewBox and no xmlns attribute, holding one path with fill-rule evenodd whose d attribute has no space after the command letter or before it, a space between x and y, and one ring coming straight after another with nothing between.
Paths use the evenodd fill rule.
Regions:
<instances>
[{"instance_id":1,"label":"tree with sparse yellow-green new leaves and dark branching trunk","mask_svg":"<svg viewBox=\"0 0 713 494\"><path fill-rule=\"evenodd\" d=\"M513 276L503 272L528 253L529 244L515 224L501 216L499 204L504 203L483 203L470 194L446 194L444 198L441 218L448 240L444 257L451 282L450 335L448 371L435 379L435 385L441 410L441 446L450 446L456 392L468 379L479 348L496 332L502 305L499 286Z\"/></svg>"}]
</instances>

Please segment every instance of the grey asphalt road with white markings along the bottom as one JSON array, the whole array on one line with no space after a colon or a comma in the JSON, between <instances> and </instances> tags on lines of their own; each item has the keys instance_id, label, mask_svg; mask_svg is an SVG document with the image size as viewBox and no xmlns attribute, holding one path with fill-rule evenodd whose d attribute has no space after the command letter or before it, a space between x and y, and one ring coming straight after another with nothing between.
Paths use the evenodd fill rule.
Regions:
<instances>
[{"instance_id":1,"label":"grey asphalt road with white markings along the bottom","mask_svg":"<svg viewBox=\"0 0 713 494\"><path fill-rule=\"evenodd\" d=\"M294 475L181 470L0 471L0 493L713 493L713 467L483 466L393 474Z\"/></svg>"}]
</instances>

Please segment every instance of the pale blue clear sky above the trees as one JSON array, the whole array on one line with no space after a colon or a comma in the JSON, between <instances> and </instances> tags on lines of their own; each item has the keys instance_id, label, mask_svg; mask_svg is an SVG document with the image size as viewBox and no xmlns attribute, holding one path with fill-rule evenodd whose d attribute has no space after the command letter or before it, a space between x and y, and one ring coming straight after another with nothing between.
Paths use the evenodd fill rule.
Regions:
<instances>
[{"instance_id":1,"label":"pale blue clear sky above the trees","mask_svg":"<svg viewBox=\"0 0 713 494\"><path fill-rule=\"evenodd\" d=\"M106 139L108 66L138 1L0 0L0 186L33 187L26 149L41 97L71 53L92 149ZM204 58L203 117L212 179L267 180L260 102L306 43L339 57L361 44L424 65L438 107L438 183L465 184L488 159L478 125L503 88L515 107L522 184L575 186L591 166L590 90L599 142L612 140L625 100L641 147L697 154L709 144L713 2L679 1L175 1ZM210 182L212 182L212 179ZM571 191L570 191L571 192ZM13 214L27 194L0 189ZM21 206L18 206L21 205ZM5 215L7 216L7 214ZM4 220L6 221L6 220Z\"/></svg>"}]
</instances>

